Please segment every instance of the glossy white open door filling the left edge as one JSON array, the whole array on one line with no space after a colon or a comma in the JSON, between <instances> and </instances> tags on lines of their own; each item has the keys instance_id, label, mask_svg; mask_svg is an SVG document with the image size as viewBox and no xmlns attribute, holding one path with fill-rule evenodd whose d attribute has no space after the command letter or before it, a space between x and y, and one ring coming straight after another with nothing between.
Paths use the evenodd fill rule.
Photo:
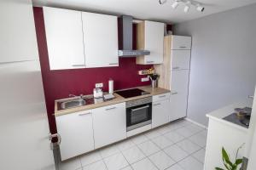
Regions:
<instances>
[{"instance_id":1,"label":"glossy white open door filling the left edge","mask_svg":"<svg viewBox=\"0 0 256 170\"><path fill-rule=\"evenodd\" d=\"M31 0L1 0L0 23L0 169L54 170Z\"/></svg>"}]
</instances>

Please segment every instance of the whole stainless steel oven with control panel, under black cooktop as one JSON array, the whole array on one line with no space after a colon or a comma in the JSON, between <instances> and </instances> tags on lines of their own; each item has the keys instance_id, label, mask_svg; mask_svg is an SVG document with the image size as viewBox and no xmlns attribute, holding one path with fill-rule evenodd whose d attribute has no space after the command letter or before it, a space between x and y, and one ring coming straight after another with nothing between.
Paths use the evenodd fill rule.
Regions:
<instances>
[{"instance_id":1,"label":"whole stainless steel oven with control panel, under black cooktop","mask_svg":"<svg viewBox=\"0 0 256 170\"><path fill-rule=\"evenodd\" d=\"M126 131L152 123L152 97L126 102Z\"/></svg>"}]
</instances>

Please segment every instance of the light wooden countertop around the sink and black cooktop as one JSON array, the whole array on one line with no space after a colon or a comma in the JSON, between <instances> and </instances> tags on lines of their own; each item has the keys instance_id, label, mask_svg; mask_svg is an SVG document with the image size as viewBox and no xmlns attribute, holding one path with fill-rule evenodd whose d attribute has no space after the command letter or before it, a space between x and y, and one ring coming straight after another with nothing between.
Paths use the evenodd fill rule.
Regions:
<instances>
[{"instance_id":1,"label":"light wooden countertop around the sink and black cooktop","mask_svg":"<svg viewBox=\"0 0 256 170\"><path fill-rule=\"evenodd\" d=\"M74 112L78 112L78 111L87 111L87 110L95 109L98 107L114 105L114 104L130 101L133 99L142 99L142 98L146 98L146 97L150 97L150 96L154 96L154 95L158 95L158 94L166 94L166 93L170 92L170 90L167 90L164 88L151 88L148 86L147 87L138 87L138 88L142 89L150 94L125 99L125 98L121 97L119 94L113 93L115 98L112 100L108 100L108 101L104 101L104 102L100 102L100 103L96 103L96 104L91 104L91 105L83 105L83 106L79 106L79 107L73 107L70 109L60 110L60 111L58 111L58 102L67 101L67 100L70 100L73 98L55 100L55 116L66 115L66 114L70 114L70 113L74 113ZM88 95L88 96L91 96L91 95Z\"/></svg>"}]
</instances>

